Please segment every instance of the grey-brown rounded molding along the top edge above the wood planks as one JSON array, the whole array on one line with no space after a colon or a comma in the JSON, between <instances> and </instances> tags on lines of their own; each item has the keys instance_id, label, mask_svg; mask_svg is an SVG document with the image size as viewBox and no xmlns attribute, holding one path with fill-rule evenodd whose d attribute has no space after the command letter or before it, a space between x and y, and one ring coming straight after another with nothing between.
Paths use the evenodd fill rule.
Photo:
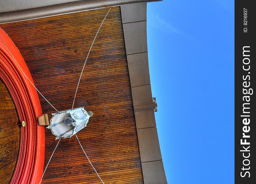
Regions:
<instances>
[{"instance_id":1,"label":"grey-brown rounded molding along the top edge above the wood planks","mask_svg":"<svg viewBox=\"0 0 256 184\"><path fill-rule=\"evenodd\" d=\"M161 0L3 0L0 8L0 24L50 17L66 13L120 6L138 2Z\"/></svg>"}]
</instances>

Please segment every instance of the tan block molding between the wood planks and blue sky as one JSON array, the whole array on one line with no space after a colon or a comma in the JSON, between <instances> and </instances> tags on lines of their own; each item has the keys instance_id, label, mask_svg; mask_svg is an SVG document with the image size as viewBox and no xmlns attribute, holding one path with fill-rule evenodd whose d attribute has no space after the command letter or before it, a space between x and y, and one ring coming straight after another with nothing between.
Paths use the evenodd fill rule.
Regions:
<instances>
[{"instance_id":1,"label":"tan block molding between the wood planks and blue sky","mask_svg":"<svg viewBox=\"0 0 256 184\"><path fill-rule=\"evenodd\" d=\"M166 184L157 135L147 52L146 3L121 6L142 174L145 184Z\"/></svg>"}]
</instances>

